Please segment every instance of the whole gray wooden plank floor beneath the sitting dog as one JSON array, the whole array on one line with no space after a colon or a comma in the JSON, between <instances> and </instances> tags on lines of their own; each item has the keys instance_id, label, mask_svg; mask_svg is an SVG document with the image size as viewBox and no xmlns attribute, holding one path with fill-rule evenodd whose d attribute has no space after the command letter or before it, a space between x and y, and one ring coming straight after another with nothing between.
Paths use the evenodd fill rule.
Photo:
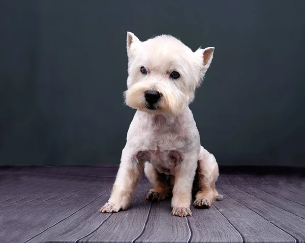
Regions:
<instances>
[{"instance_id":1,"label":"whole gray wooden plank floor beneath the sitting dog","mask_svg":"<svg viewBox=\"0 0 305 243\"><path fill-rule=\"evenodd\" d=\"M192 217L170 200L144 201L144 177L128 211L102 214L117 167L0 169L0 242L304 242L305 178L233 170L217 183L223 201Z\"/></svg>"}]
</instances>

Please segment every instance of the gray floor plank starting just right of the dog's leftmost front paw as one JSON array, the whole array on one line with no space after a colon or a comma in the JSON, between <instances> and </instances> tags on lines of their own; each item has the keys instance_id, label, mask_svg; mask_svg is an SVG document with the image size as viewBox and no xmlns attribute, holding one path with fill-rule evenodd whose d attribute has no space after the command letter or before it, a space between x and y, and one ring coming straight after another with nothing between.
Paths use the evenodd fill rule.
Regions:
<instances>
[{"instance_id":1,"label":"gray floor plank starting just right of the dog's leftmost front paw","mask_svg":"<svg viewBox=\"0 0 305 243\"><path fill-rule=\"evenodd\" d=\"M79 236L77 242L132 242L141 235L146 225L151 203L144 198L150 188L147 183L139 184L127 211L111 215L102 225L93 228L87 236Z\"/></svg>"}]
</instances>

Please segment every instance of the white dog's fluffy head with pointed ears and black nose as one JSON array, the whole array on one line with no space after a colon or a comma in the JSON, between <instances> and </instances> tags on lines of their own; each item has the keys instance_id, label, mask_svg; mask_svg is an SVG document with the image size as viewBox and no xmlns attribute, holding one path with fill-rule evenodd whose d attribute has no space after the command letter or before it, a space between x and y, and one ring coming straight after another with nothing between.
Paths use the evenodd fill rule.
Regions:
<instances>
[{"instance_id":1,"label":"white dog's fluffy head with pointed ears and black nose","mask_svg":"<svg viewBox=\"0 0 305 243\"><path fill-rule=\"evenodd\" d=\"M141 42L128 32L126 105L153 114L181 112L194 99L213 53L214 47L193 52L172 36Z\"/></svg>"}]
</instances>

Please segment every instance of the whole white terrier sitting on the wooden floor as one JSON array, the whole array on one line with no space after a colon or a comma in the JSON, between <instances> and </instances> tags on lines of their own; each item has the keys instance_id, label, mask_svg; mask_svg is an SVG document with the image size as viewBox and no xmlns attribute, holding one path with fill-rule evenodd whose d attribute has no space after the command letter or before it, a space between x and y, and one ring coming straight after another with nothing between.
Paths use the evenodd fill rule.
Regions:
<instances>
[{"instance_id":1,"label":"whole white terrier sitting on the wooden floor","mask_svg":"<svg viewBox=\"0 0 305 243\"><path fill-rule=\"evenodd\" d=\"M215 157L200 146L189 104L211 63L214 47L193 52L172 36L141 42L128 32L127 53L125 100L137 111L111 196L100 211L128 208L143 167L154 185L146 200L165 199L172 193L172 214L184 217L192 214L193 189L197 190L194 205L209 207L222 198L215 188L219 169Z\"/></svg>"}]
</instances>

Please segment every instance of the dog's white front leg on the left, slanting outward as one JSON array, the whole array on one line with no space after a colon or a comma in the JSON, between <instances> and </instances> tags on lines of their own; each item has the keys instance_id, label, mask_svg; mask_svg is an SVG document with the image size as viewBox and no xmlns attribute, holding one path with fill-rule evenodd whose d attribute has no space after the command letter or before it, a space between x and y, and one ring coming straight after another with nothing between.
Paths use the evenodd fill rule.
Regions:
<instances>
[{"instance_id":1,"label":"dog's white front leg on the left, slanting outward","mask_svg":"<svg viewBox=\"0 0 305 243\"><path fill-rule=\"evenodd\" d=\"M108 202L101 208L102 213L116 213L126 210L143 171L143 161L137 158L137 151L123 149L121 162Z\"/></svg>"}]
</instances>

